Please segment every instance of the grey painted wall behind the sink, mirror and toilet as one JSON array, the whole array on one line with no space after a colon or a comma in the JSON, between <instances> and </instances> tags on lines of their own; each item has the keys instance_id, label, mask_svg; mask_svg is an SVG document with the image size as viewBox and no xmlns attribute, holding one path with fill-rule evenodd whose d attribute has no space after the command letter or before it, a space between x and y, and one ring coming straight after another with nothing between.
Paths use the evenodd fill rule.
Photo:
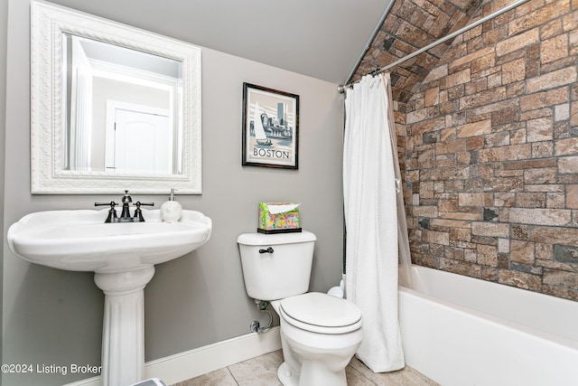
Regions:
<instances>
[{"instance_id":1,"label":"grey painted wall behind the sink, mirror and toilet","mask_svg":"<svg viewBox=\"0 0 578 386\"><path fill-rule=\"evenodd\" d=\"M99 364L104 296L92 274L18 259L5 243L5 231L29 212L92 208L95 201L117 199L123 186L118 197L30 194L29 4L9 0L8 5L2 359L34 366ZM3 23L0 18L0 29ZM311 289L326 291L340 280L343 110L337 85L208 49L202 66L203 193L178 199L185 209L209 215L214 229L200 249L157 266L145 288L146 361L247 334L249 322L262 318L245 293L236 243L238 234L256 230L258 202L303 202L303 228L318 237ZM300 96L299 170L241 166L244 81ZM165 201L136 198L154 201L157 208ZM82 378L5 374L2 384L55 385Z\"/></svg>"}]
</instances>

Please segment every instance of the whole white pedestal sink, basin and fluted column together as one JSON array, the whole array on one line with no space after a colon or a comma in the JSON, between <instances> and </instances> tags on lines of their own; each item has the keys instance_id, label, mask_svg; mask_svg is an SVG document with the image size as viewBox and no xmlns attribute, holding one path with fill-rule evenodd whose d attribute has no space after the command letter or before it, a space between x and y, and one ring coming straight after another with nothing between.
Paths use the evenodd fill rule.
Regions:
<instances>
[{"instance_id":1,"label":"whole white pedestal sink, basin and fluted column together","mask_svg":"<svg viewBox=\"0 0 578 386\"><path fill-rule=\"evenodd\" d=\"M144 377L144 286L154 265L179 258L210 239L210 218L182 211L176 222L143 210L145 222L104 223L108 210L34 212L15 222L13 253L52 268L95 272L105 293L102 378L128 386Z\"/></svg>"}]
</instances>

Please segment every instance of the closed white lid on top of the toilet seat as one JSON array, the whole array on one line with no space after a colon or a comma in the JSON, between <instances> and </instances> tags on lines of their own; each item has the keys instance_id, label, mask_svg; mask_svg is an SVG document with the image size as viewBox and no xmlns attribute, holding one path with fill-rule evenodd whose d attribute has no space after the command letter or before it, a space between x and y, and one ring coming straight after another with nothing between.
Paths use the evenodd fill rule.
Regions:
<instances>
[{"instance_id":1,"label":"closed white lid on top of the toilet seat","mask_svg":"<svg viewBox=\"0 0 578 386\"><path fill-rule=\"evenodd\" d=\"M320 292L286 297L281 300L280 306L285 315L306 325L343 327L355 325L361 320L358 306L346 299Z\"/></svg>"}]
</instances>

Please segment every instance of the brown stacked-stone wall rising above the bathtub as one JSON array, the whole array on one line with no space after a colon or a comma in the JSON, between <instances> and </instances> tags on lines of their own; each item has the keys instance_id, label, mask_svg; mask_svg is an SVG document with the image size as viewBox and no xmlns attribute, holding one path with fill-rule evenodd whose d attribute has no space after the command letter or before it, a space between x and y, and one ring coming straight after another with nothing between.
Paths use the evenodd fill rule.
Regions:
<instances>
[{"instance_id":1,"label":"brown stacked-stone wall rising above the bathtub","mask_svg":"<svg viewBox=\"0 0 578 386\"><path fill-rule=\"evenodd\" d=\"M577 66L578 0L531 0L397 101L416 264L578 300Z\"/></svg>"}]
</instances>

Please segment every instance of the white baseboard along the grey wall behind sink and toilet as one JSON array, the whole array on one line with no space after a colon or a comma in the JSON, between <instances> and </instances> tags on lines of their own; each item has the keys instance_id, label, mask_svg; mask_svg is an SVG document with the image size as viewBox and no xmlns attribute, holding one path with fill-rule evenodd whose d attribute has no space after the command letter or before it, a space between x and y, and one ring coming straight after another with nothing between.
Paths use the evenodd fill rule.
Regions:
<instances>
[{"instance_id":1,"label":"white baseboard along the grey wall behind sink and toilet","mask_svg":"<svg viewBox=\"0 0 578 386\"><path fill-rule=\"evenodd\" d=\"M144 379L158 378L167 385L281 348L279 327L265 334L250 333L226 341L209 344L184 353L176 353L144 364ZM64 386L103 386L100 376L68 383Z\"/></svg>"}]
</instances>

